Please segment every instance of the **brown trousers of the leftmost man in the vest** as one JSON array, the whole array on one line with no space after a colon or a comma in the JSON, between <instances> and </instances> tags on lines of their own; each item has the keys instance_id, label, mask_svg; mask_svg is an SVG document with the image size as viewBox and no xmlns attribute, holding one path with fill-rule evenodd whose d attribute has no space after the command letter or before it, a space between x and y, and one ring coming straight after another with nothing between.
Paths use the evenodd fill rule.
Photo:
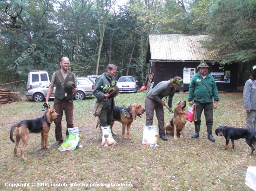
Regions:
<instances>
[{"instance_id":1,"label":"brown trousers of the leftmost man in the vest","mask_svg":"<svg viewBox=\"0 0 256 191\"><path fill-rule=\"evenodd\" d=\"M67 101L62 101L60 99L54 98L54 109L59 114L59 117L54 120L55 123L55 137L56 140L63 140L62 137L62 116L63 116L63 110L65 111L66 115L66 121L67 121L67 128L74 128L74 103L73 99L69 99ZM66 135L68 134L68 131L66 130Z\"/></svg>"}]
</instances>

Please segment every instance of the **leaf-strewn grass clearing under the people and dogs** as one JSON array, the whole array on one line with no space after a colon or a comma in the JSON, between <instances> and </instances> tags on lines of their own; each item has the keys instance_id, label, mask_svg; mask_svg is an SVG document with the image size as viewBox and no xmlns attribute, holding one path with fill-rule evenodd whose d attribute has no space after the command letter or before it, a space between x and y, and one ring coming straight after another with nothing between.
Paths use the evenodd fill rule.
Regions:
<instances>
[{"instance_id":1,"label":"leaf-strewn grass clearing under the people and dogs","mask_svg":"<svg viewBox=\"0 0 256 191\"><path fill-rule=\"evenodd\" d=\"M137 102L144 107L145 96L144 92L120 94L115 101L118 106ZM216 115L220 123L243 128L246 121L243 94L220 93L219 96ZM187 97L188 93L176 93L173 109L178 101L187 100ZM234 149L231 149L230 142L226 151L222 150L224 137L217 137L213 132L216 141L209 141L203 114L199 139L191 139L195 132L194 123L187 121L183 140L174 140L174 136L168 134L168 141L158 140L157 148L142 145L143 124L146 121L144 114L131 125L132 140L121 139L121 123L115 122L114 131L118 135L114 137L117 143L104 147L101 146L100 129L95 129L97 118L92 115L93 102L93 96L74 101L74 126L79 127L84 135L83 148L76 148L73 152L61 152L54 148L55 125L52 123L48 137L51 148L40 149L40 134L30 134L25 149L26 161L20 156L22 142L18 147L19 156L13 157L14 143L9 139L10 128L19 121L42 116L43 103L29 102L22 96L20 102L0 105L0 190L250 190L244 184L246 166L256 165L256 155L248 155L250 148L244 139L235 140ZM50 105L53 108L53 102ZM167 108L164 110L167 123L173 114ZM156 117L154 124L157 124ZM65 135L65 117L62 127L62 134ZM217 127L214 115L213 131ZM15 183L30 183L30 186L6 186ZM32 183L36 185L32 186ZM110 183L110 187L102 186Z\"/></svg>"}]
</instances>

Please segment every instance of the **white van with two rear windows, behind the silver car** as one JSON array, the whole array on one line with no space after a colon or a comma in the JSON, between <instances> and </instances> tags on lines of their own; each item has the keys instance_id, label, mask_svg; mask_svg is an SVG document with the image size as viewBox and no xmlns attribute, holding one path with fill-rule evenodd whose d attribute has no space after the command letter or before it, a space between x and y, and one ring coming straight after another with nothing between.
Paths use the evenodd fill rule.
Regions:
<instances>
[{"instance_id":1,"label":"white van with two rear windows, behind the silver car","mask_svg":"<svg viewBox=\"0 0 256 191\"><path fill-rule=\"evenodd\" d=\"M50 83L49 75L46 70L31 70L27 76L27 90L40 88Z\"/></svg>"}]
</instances>

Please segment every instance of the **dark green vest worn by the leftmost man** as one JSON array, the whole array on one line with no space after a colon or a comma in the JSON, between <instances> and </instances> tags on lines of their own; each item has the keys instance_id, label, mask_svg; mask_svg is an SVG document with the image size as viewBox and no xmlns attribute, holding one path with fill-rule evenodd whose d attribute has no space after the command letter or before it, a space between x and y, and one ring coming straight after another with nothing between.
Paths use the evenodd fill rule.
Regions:
<instances>
[{"instance_id":1,"label":"dark green vest worn by the leftmost man","mask_svg":"<svg viewBox=\"0 0 256 191\"><path fill-rule=\"evenodd\" d=\"M67 94L67 96L65 96L65 90L64 90L64 83L65 80L67 79L72 79L75 81L74 79L74 73L71 71L68 71L67 77L66 79L64 79L61 70L56 71L55 72L55 84L56 84L56 90L55 90L55 95L54 97L59 98L59 99L63 99L65 98L66 100L71 99L73 97L73 93L72 94Z\"/></svg>"}]
</instances>

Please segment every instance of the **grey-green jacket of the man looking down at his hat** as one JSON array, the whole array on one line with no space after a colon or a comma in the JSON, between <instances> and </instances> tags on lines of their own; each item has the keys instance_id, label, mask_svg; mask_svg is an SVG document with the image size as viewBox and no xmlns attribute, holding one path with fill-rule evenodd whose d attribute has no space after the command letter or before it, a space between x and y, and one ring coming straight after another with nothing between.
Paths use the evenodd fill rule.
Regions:
<instances>
[{"instance_id":1,"label":"grey-green jacket of the man looking down at his hat","mask_svg":"<svg viewBox=\"0 0 256 191\"><path fill-rule=\"evenodd\" d=\"M100 76L98 76L95 80L94 83L94 96L96 97L95 102L102 102L104 101L105 96L104 94L105 89L101 88L101 86L105 87L105 84L110 85L112 81L115 81L115 77L112 77L110 79L110 77L108 77L106 75L106 72L104 72L104 74L101 74ZM103 103L103 107L102 108L114 108L115 107L115 102L114 102L114 98L110 98L110 99L106 99L106 101Z\"/></svg>"}]
</instances>

